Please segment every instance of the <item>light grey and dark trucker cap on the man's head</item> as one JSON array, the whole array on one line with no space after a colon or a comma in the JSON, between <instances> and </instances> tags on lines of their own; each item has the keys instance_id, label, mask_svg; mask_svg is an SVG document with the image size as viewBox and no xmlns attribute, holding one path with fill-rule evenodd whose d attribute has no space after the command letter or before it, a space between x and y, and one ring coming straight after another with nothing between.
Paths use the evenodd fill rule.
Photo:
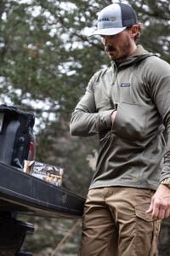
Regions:
<instances>
[{"instance_id":1,"label":"light grey and dark trucker cap on the man's head","mask_svg":"<svg viewBox=\"0 0 170 256\"><path fill-rule=\"evenodd\" d=\"M98 28L91 35L116 35L138 23L133 8L125 3L112 3L99 12Z\"/></svg>"}]
</instances>

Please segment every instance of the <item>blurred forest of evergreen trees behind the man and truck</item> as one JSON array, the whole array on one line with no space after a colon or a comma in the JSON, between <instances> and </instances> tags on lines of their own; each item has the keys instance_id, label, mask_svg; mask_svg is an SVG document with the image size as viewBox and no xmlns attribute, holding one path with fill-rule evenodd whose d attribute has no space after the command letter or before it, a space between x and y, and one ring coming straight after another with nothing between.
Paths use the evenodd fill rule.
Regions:
<instances>
[{"instance_id":1,"label":"blurred forest of evergreen trees behind the man and truck","mask_svg":"<svg viewBox=\"0 0 170 256\"><path fill-rule=\"evenodd\" d=\"M96 137L71 137L69 122L88 80L111 64L100 39L88 33L99 10L116 2L133 6L144 24L139 43L170 63L169 0L0 1L0 103L35 113L36 160L64 166L64 187L82 196L94 172L98 143ZM80 220L25 218L35 227L25 250L35 256L77 255ZM169 220L163 225L160 255L167 256Z\"/></svg>"}]
</instances>

